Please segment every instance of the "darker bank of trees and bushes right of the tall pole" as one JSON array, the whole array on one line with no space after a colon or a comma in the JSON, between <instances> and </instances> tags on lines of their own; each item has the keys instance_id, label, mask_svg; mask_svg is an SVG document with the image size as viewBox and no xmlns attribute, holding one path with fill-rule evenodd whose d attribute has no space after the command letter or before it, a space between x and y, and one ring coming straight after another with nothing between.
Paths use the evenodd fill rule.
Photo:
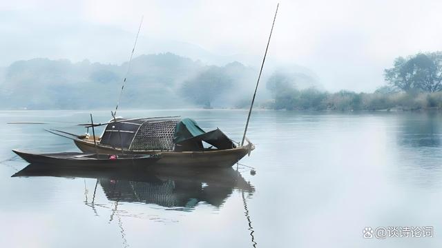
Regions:
<instances>
[{"instance_id":1,"label":"darker bank of trees and bushes right of the tall pole","mask_svg":"<svg viewBox=\"0 0 442 248\"><path fill-rule=\"evenodd\" d=\"M263 107L285 110L442 110L442 52L399 56L384 70L386 85L373 93L331 93L299 88L302 77L273 74L267 89L273 99Z\"/></svg>"}]
</instances>

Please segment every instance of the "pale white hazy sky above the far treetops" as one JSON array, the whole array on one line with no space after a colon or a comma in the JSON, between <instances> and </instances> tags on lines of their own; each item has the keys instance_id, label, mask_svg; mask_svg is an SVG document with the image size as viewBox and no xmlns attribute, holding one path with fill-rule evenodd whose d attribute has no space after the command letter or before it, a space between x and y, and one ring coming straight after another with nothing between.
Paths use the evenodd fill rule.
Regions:
<instances>
[{"instance_id":1,"label":"pale white hazy sky above the far treetops","mask_svg":"<svg viewBox=\"0 0 442 248\"><path fill-rule=\"evenodd\" d=\"M171 50L258 68L276 3L0 1L0 66L34 57L122 63L144 15L136 54ZM327 90L373 91L396 56L442 50L441 10L437 0L280 1L268 69L301 65Z\"/></svg>"}]
</instances>

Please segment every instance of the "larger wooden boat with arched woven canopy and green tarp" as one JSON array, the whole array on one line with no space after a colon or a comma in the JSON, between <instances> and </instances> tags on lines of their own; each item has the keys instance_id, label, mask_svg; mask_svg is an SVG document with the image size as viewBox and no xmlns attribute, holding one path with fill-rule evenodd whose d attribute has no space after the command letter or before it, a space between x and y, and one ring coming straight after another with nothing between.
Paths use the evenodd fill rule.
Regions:
<instances>
[{"instance_id":1,"label":"larger wooden boat with arched woven canopy and green tarp","mask_svg":"<svg viewBox=\"0 0 442 248\"><path fill-rule=\"evenodd\" d=\"M248 140L247 145L237 146L219 129L204 132L189 118L117 118L105 125L100 137L49 132L70 135L82 152L90 154L158 154L156 165L231 167L255 149Z\"/></svg>"}]
</instances>

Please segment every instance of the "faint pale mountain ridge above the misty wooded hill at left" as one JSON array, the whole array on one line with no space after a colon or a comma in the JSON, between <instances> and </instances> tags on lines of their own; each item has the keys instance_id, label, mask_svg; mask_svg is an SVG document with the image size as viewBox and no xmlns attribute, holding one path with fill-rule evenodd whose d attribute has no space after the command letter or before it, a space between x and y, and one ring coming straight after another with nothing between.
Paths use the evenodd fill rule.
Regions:
<instances>
[{"instance_id":1,"label":"faint pale mountain ridge above the misty wooded hill at left","mask_svg":"<svg viewBox=\"0 0 442 248\"><path fill-rule=\"evenodd\" d=\"M69 58L71 61L101 63L123 63L128 59L135 34L111 25L97 25L81 20L56 22L39 19L38 23L23 12L8 10L0 14L0 22L12 23L0 27L2 38L0 66L13 61L45 57L49 59ZM32 42L30 42L32 41ZM231 61L242 61L259 66L260 58L247 54L214 54L185 41L140 36L135 54L158 54L171 52L202 63L222 66Z\"/></svg>"}]
</instances>

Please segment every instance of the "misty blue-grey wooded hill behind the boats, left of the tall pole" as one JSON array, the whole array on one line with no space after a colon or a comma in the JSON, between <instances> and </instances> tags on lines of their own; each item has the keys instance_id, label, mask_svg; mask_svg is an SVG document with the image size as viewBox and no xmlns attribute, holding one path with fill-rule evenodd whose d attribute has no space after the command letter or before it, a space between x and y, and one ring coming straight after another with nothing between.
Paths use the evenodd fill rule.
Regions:
<instances>
[{"instance_id":1,"label":"misty blue-grey wooded hill behind the boats, left of the tall pole","mask_svg":"<svg viewBox=\"0 0 442 248\"><path fill-rule=\"evenodd\" d=\"M111 109L127 70L127 62L113 65L87 60L17 61L0 70L1 108ZM132 61L120 105L126 109L245 107L257 75L256 68L239 62L218 66L172 53L137 56ZM278 79L284 76L278 72ZM297 80L293 74L287 77ZM305 78L308 76L298 76L300 82ZM258 104L266 98L271 98L271 94L261 87Z\"/></svg>"}]
</instances>

